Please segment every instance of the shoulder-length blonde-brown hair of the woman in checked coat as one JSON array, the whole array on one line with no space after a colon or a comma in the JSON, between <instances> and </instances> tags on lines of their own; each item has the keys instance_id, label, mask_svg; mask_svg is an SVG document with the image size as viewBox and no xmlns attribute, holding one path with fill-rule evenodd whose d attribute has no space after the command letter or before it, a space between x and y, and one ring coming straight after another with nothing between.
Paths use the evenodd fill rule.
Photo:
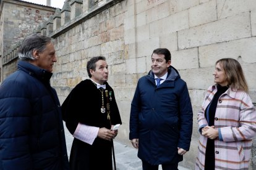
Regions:
<instances>
[{"instance_id":1,"label":"shoulder-length blonde-brown hair of the woman in checked coat","mask_svg":"<svg viewBox=\"0 0 256 170\"><path fill-rule=\"evenodd\" d=\"M221 67L225 71L225 75L228 81L228 86L233 90L242 90L248 92L248 86L244 77L244 72L239 62L235 59L220 59L217 63L220 63Z\"/></svg>"}]
</instances>

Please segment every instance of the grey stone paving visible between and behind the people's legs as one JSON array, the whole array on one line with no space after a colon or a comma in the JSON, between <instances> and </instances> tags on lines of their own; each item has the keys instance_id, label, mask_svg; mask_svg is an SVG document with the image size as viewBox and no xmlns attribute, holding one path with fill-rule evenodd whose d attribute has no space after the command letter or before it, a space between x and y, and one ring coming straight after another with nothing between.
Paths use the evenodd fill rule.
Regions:
<instances>
[{"instance_id":1,"label":"grey stone paving visible between and behind the people's legs","mask_svg":"<svg viewBox=\"0 0 256 170\"><path fill-rule=\"evenodd\" d=\"M72 145L73 137L69 134L67 129L66 142L67 142L67 154L70 154L70 148ZM137 149L127 147L114 140L114 152L116 158L116 169L117 170L142 170L142 162L137 157ZM161 166L159 170L162 169ZM179 170L188 170L179 166Z\"/></svg>"}]
</instances>

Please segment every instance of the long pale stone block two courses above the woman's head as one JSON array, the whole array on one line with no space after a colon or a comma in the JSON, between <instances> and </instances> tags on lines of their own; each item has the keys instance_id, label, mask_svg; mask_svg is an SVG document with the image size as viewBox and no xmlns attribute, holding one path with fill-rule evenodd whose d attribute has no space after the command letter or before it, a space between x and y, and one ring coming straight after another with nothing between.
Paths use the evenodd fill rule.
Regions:
<instances>
[{"instance_id":1,"label":"long pale stone block two courses above the woman's head","mask_svg":"<svg viewBox=\"0 0 256 170\"><path fill-rule=\"evenodd\" d=\"M186 49L250 36L250 15L247 12L178 31L178 45L179 49Z\"/></svg>"}]
</instances>

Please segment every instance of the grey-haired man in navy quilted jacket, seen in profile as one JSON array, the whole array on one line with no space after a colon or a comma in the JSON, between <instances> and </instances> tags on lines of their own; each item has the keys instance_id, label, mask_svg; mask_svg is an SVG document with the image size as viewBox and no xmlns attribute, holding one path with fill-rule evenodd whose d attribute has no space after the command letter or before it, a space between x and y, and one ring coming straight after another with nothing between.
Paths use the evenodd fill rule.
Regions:
<instances>
[{"instance_id":1,"label":"grey-haired man in navy quilted jacket, seen in profile","mask_svg":"<svg viewBox=\"0 0 256 170\"><path fill-rule=\"evenodd\" d=\"M52 39L28 36L19 58L0 86L0 169L69 169L61 107L49 83L57 61Z\"/></svg>"}]
</instances>

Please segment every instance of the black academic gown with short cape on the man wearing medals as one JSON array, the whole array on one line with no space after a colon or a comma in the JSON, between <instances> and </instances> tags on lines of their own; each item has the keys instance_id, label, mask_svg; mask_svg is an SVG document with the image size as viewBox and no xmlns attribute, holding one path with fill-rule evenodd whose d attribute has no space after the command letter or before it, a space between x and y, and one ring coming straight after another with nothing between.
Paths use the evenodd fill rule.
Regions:
<instances>
[{"instance_id":1,"label":"black academic gown with short cape on the man wearing medals","mask_svg":"<svg viewBox=\"0 0 256 170\"><path fill-rule=\"evenodd\" d=\"M108 83L105 84L109 99L111 99L109 100L111 124L121 124L114 91ZM105 92L103 94L106 108ZM79 123L110 129L111 124L107 118L107 110L105 113L101 113L101 106L101 92L90 79L77 84L61 106L63 119L66 121L69 132L74 134ZM111 146L110 141L98 137L92 145L74 138L69 159L70 169L98 170L104 167L105 170L112 170Z\"/></svg>"}]
</instances>

